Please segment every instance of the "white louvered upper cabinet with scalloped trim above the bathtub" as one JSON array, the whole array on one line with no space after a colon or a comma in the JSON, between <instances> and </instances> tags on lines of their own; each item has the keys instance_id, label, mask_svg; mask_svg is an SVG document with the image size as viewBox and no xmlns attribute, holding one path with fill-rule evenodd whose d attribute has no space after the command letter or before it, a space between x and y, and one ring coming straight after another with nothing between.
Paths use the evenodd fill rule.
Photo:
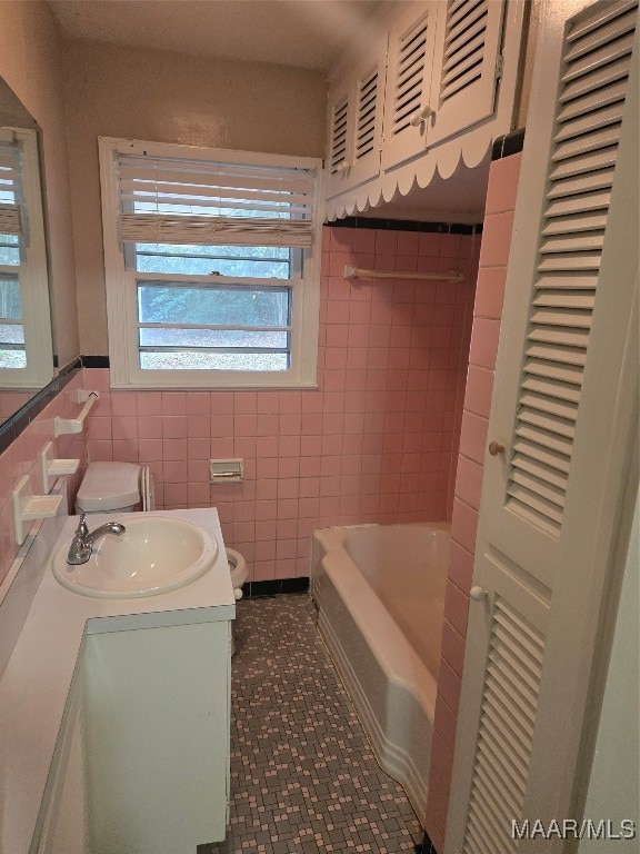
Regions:
<instances>
[{"instance_id":1,"label":"white louvered upper cabinet with scalloped trim above the bathtub","mask_svg":"<svg viewBox=\"0 0 640 854\"><path fill-rule=\"evenodd\" d=\"M386 34L329 95L329 219L479 163L513 130L523 0L387 4Z\"/></svg>"}]
</instances>

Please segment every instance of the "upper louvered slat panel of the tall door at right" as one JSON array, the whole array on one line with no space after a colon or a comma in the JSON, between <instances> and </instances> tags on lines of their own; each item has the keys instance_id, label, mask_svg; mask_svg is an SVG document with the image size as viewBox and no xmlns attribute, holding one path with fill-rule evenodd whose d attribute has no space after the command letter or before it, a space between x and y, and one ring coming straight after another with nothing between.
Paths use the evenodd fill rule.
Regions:
<instances>
[{"instance_id":1,"label":"upper louvered slat panel of the tall door at right","mask_svg":"<svg viewBox=\"0 0 640 854\"><path fill-rule=\"evenodd\" d=\"M597 7L569 34L564 53L506 490L507 506L538 514L538 524L556 535L562 524L636 17L637 3ZM557 453L563 455L559 466L553 465Z\"/></svg>"}]
</instances>

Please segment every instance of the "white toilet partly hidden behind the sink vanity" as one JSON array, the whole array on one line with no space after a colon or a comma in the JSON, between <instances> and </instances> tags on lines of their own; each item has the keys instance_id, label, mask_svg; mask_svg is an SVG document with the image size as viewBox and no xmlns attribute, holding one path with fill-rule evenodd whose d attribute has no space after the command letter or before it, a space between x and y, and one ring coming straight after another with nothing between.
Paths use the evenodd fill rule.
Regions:
<instances>
[{"instance_id":1,"label":"white toilet partly hidden behind the sink vanity","mask_svg":"<svg viewBox=\"0 0 640 854\"><path fill-rule=\"evenodd\" d=\"M136 463L90 463L76 497L76 513L133 513L156 509L153 477ZM231 584L242 598L247 563L239 552L227 549Z\"/></svg>"}]
</instances>

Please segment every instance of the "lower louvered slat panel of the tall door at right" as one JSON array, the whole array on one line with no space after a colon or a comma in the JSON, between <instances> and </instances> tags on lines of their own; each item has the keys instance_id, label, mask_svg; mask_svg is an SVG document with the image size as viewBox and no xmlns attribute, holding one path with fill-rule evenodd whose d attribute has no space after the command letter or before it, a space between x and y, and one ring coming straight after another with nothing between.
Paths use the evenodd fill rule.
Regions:
<instances>
[{"instance_id":1,"label":"lower louvered slat panel of the tall door at right","mask_svg":"<svg viewBox=\"0 0 640 854\"><path fill-rule=\"evenodd\" d=\"M540 633L497 595L463 854L516 851L543 654Z\"/></svg>"}]
</instances>

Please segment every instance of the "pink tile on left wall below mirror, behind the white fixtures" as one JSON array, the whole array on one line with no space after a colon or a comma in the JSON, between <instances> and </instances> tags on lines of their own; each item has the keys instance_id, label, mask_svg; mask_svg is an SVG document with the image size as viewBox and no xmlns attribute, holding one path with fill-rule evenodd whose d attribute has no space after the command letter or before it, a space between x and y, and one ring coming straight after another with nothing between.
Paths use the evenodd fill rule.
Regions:
<instances>
[{"instance_id":1,"label":"pink tile on left wall below mirror, behind the white fixtures","mask_svg":"<svg viewBox=\"0 0 640 854\"><path fill-rule=\"evenodd\" d=\"M80 469L71 478L70 495L74 495L84 470L87 460L87 440L84 434L60 436L53 438L53 418L71 418L80 410L74 399L79 388L82 388L83 375L78 371L76 377L39 414L6 451L0 454L0 584L4 579L19 546L13 532L13 508L11 490L23 475L31 477L31 488L34 495L42 491L42 473L40 451L48 441L53 441L56 455L59 458L80 459Z\"/></svg>"}]
</instances>

